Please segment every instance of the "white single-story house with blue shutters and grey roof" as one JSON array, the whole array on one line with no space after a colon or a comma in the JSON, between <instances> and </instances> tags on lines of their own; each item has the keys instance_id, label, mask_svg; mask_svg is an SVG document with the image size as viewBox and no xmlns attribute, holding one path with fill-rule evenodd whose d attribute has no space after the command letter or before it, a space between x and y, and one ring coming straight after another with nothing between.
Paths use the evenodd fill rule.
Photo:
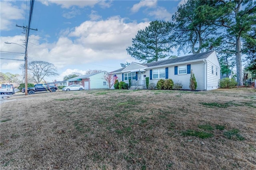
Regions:
<instances>
[{"instance_id":1,"label":"white single-story house with blue shutters and grey roof","mask_svg":"<svg viewBox=\"0 0 256 170\"><path fill-rule=\"evenodd\" d=\"M193 70L196 90L213 90L219 87L220 64L215 51L208 51L194 55L167 59L152 63L131 63L125 68L111 73L118 76L118 81L126 83L131 80L131 86L146 88L145 78L149 77L149 84L156 84L160 79L171 78L174 83L181 82L182 89L190 89L190 73Z\"/></svg>"}]
</instances>

